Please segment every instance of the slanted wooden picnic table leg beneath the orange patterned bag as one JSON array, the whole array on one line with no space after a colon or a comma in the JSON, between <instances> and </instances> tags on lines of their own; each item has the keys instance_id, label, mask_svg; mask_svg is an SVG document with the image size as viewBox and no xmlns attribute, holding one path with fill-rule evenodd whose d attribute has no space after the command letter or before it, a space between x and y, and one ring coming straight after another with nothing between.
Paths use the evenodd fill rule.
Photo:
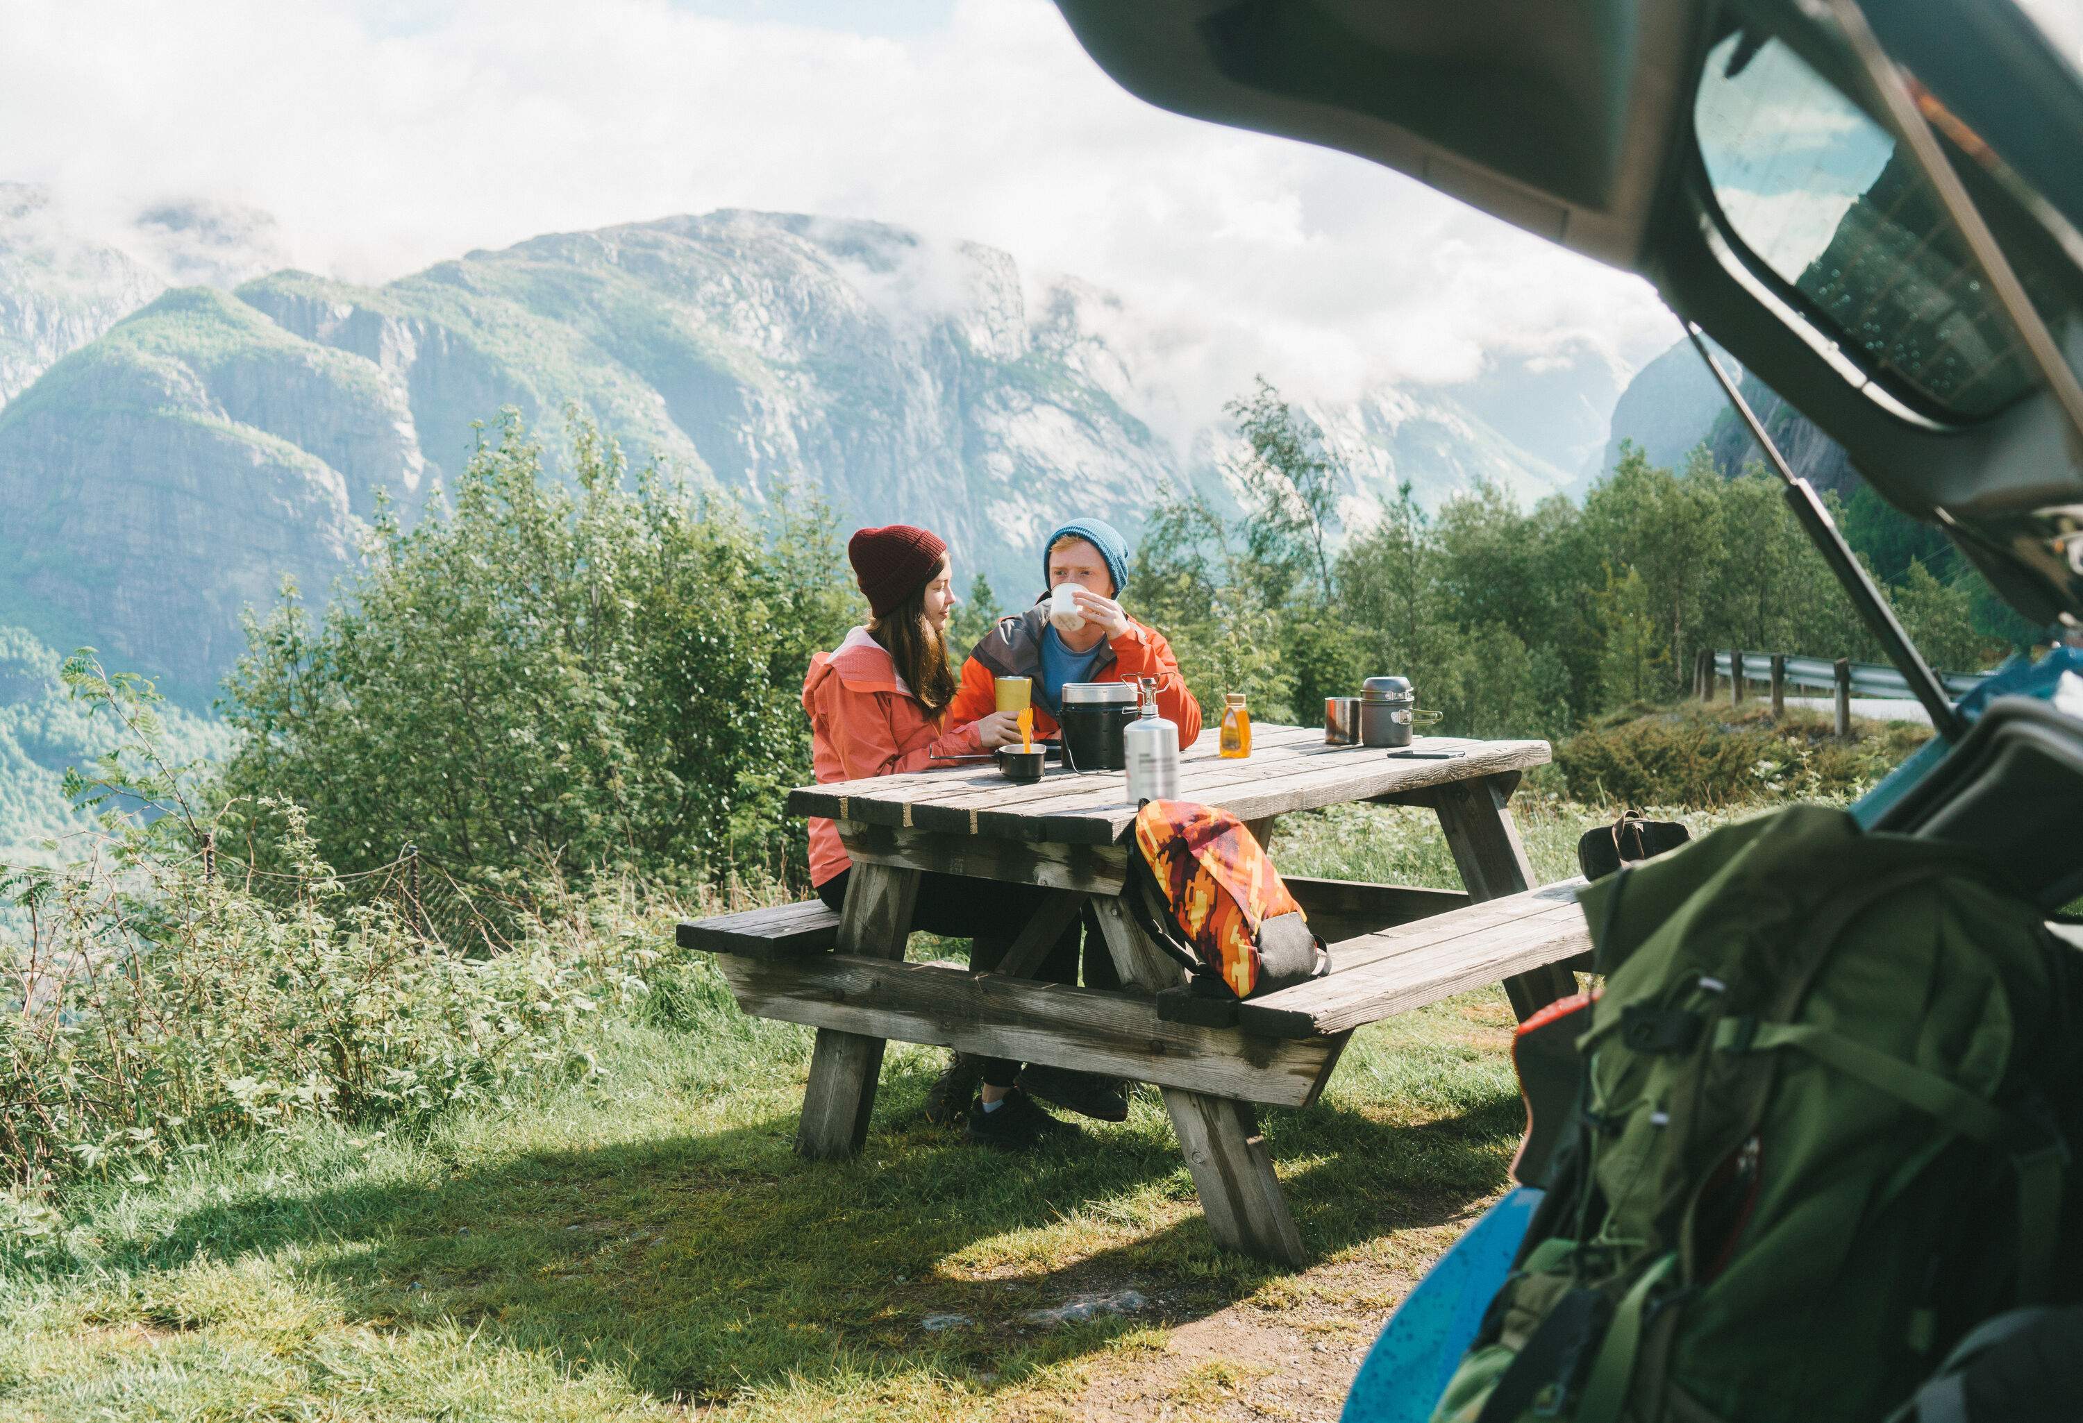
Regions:
<instances>
[{"instance_id":1,"label":"slanted wooden picnic table leg beneath the orange patterned bag","mask_svg":"<svg viewBox=\"0 0 2083 1423\"><path fill-rule=\"evenodd\" d=\"M1148 992L1179 983L1179 965L1135 927L1119 898L1094 896L1091 906L1123 981ZM1216 1240L1260 1260L1304 1265L1302 1231L1281 1196L1252 1104L1185 1088L1160 1092Z\"/></svg>"}]
</instances>

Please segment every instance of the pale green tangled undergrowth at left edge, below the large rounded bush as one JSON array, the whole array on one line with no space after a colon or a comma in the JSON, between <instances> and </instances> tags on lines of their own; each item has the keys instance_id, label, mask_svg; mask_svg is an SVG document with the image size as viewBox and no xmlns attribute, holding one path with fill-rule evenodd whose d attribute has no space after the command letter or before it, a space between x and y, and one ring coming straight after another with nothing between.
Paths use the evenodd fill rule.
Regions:
<instances>
[{"instance_id":1,"label":"pale green tangled undergrowth at left edge, below the large rounded bush","mask_svg":"<svg viewBox=\"0 0 2083 1423\"><path fill-rule=\"evenodd\" d=\"M644 992L633 944L537 933L471 958L358 900L287 802L283 869L227 881L202 767L162 754L150 688L83 656L62 677L121 742L69 773L100 810L75 858L0 869L0 1177L135 1173L300 1115L415 1123L583 1065L575 1023Z\"/></svg>"}]
</instances>

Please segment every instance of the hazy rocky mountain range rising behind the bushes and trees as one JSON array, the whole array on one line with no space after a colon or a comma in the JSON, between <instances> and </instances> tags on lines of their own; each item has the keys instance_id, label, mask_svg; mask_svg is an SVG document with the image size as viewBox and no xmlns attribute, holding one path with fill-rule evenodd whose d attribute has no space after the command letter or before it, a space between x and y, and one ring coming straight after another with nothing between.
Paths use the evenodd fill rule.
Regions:
<instances>
[{"instance_id":1,"label":"hazy rocky mountain range rising behind the bushes and trees","mask_svg":"<svg viewBox=\"0 0 2083 1423\"><path fill-rule=\"evenodd\" d=\"M48 369L0 406L0 621L92 642L190 700L242 646L242 604L283 573L323 598L377 492L417 517L504 404L550 450L583 408L637 463L754 510L814 490L842 519L931 523L1006 598L1064 515L1133 529L1171 492L1223 488L1219 425L1177 450L1137 415L1152 392L1091 319L1106 294L1027 283L977 244L725 210L544 235L383 288L296 271L181 285L108 325L165 283L173 238L206 281L235 265L212 254L256 248L233 213L158 217L160 238L140 225L158 260L115 252L106 281L77 285L100 304L27 323L50 335L19 369ZM1429 504L1475 479L1562 488L1562 467L1477 413L1519 408L1529 379L1312 406L1352 467L1348 523L1404 479ZM1591 425L1573 419L1575 448Z\"/></svg>"}]
</instances>

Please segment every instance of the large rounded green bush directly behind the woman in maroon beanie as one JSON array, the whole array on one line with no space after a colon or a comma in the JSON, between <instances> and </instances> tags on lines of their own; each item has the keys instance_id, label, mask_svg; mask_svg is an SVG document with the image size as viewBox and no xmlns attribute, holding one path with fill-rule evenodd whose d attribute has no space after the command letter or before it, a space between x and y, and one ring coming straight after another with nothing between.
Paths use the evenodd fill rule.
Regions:
<instances>
[{"instance_id":1,"label":"large rounded green bush directly behind the woman in maroon beanie","mask_svg":"<svg viewBox=\"0 0 2083 1423\"><path fill-rule=\"evenodd\" d=\"M248 623L233 798L304 806L344 871L406 844L479 883L800 858L798 694L854 604L829 517L781 492L762 540L658 471L627 488L612 442L571 423L575 490L508 410L454 513L381 521L321 629L294 590Z\"/></svg>"}]
</instances>

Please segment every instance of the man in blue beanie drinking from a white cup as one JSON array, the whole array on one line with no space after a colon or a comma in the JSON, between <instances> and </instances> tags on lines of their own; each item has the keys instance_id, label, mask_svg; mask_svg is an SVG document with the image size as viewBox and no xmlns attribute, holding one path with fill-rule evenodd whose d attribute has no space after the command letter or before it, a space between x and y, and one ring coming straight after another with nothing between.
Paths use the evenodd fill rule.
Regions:
<instances>
[{"instance_id":1,"label":"man in blue beanie drinking from a white cup","mask_svg":"<svg viewBox=\"0 0 2083 1423\"><path fill-rule=\"evenodd\" d=\"M1073 519L1042 544L1042 596L1019 617L998 621L962 663L962 685L948 704L948 725L958 727L998 710L1000 677L1033 677L1035 735L1052 735L1062 710L1062 688L1071 681L1119 681L1154 677L1158 710L1179 727L1179 748L1200 738L1200 702L1179 675L1164 633L1129 617L1121 590L1129 581L1129 544L1104 519ZM1075 617L1052 617L1058 588L1071 588ZM1079 623L1081 619L1081 623ZM1114 963L1100 944L1087 913L1085 983L1119 988ZM989 969L975 963L973 969ZM956 1056L927 1094L927 1117L952 1121L975 1092L977 1060ZM1060 1067L1029 1065L1021 1085L1033 1096L1100 1121L1129 1115L1119 1083Z\"/></svg>"}]
</instances>

